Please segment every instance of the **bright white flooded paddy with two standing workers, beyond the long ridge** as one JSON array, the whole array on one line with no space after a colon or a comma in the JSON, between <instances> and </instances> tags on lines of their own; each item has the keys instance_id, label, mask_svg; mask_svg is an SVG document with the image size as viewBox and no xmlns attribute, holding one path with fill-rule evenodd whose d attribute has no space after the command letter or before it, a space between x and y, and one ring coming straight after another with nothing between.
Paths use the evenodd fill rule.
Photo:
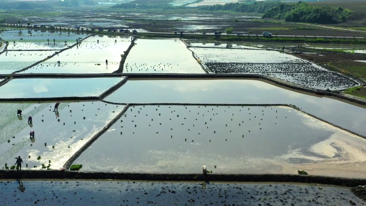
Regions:
<instances>
[{"instance_id":1,"label":"bright white flooded paddy with two standing workers, beyond the long ridge","mask_svg":"<svg viewBox=\"0 0 366 206\"><path fill-rule=\"evenodd\" d=\"M71 44L74 43L76 40ZM22 73L112 73L118 69L121 55L130 44L127 36L92 36Z\"/></svg>"}]
</instances>

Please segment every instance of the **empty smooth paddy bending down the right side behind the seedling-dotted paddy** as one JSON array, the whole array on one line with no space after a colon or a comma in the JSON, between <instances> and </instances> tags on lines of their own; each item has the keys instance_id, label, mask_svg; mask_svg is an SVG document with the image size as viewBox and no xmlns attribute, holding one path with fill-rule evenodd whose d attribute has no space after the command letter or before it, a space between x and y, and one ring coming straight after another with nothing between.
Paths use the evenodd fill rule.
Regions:
<instances>
[{"instance_id":1,"label":"empty smooth paddy bending down the right side behind the seedling-dotted paddy","mask_svg":"<svg viewBox=\"0 0 366 206\"><path fill-rule=\"evenodd\" d=\"M366 129L362 126L366 124L365 107L258 80L130 79L105 100L116 103L294 104L310 114L366 136Z\"/></svg>"}]
</instances>

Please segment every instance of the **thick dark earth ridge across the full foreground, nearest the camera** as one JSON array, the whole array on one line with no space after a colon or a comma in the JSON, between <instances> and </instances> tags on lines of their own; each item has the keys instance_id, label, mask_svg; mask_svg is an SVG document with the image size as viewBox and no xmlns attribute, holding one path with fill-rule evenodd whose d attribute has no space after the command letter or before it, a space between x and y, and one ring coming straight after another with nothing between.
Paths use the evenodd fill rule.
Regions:
<instances>
[{"instance_id":1,"label":"thick dark earth ridge across the full foreground, nearest the camera","mask_svg":"<svg viewBox=\"0 0 366 206\"><path fill-rule=\"evenodd\" d=\"M74 172L60 170L0 170L0 179L76 179L76 180L137 180L137 181L213 181L213 182L277 182L315 183L356 187L366 185L366 179L301 174L208 174L202 173L116 173Z\"/></svg>"}]
</instances>

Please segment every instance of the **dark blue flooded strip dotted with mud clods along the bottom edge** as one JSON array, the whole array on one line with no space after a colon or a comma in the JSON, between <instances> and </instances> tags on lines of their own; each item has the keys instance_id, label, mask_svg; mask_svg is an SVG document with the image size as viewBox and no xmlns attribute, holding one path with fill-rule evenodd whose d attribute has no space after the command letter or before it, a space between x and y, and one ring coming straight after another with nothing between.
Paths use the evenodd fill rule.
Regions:
<instances>
[{"instance_id":1,"label":"dark blue flooded strip dotted with mud clods along the bottom edge","mask_svg":"<svg viewBox=\"0 0 366 206\"><path fill-rule=\"evenodd\" d=\"M20 187L19 187L20 186ZM18 189L19 188L19 189ZM24 192L20 189L25 188ZM307 184L151 183L53 180L0 183L2 204L16 205L361 205L348 188Z\"/></svg>"}]
</instances>

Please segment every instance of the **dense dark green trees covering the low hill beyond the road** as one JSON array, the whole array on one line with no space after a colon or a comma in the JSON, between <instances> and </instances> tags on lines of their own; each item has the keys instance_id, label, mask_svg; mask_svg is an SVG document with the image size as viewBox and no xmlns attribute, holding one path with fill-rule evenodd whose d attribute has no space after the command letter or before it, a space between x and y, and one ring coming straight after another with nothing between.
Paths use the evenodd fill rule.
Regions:
<instances>
[{"instance_id":1,"label":"dense dark green trees covering the low hill beyond the road","mask_svg":"<svg viewBox=\"0 0 366 206\"><path fill-rule=\"evenodd\" d=\"M302 1L298 3L283 3L280 1L264 1L252 4L229 3L225 5L202 6L198 10L257 12L263 14L262 18L321 24L343 22L352 14L352 11L342 7L316 7Z\"/></svg>"}]
</instances>

